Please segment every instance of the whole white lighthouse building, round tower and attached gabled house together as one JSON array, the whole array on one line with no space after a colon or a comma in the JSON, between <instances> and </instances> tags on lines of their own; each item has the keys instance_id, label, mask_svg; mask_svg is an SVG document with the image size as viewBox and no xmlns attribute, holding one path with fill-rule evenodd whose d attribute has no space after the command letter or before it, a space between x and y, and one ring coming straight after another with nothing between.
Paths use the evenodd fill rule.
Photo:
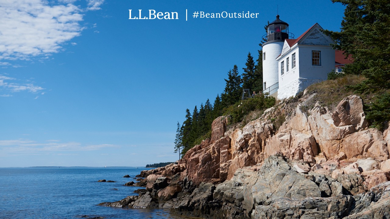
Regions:
<instances>
[{"instance_id":1,"label":"whole white lighthouse building, round tower and attached gabled house together","mask_svg":"<svg viewBox=\"0 0 390 219\"><path fill-rule=\"evenodd\" d=\"M330 44L335 42L321 32L318 23L293 39L289 25L279 15L276 18L267 26L266 42L262 44L264 93L278 99L293 97L350 62L332 48Z\"/></svg>"}]
</instances>

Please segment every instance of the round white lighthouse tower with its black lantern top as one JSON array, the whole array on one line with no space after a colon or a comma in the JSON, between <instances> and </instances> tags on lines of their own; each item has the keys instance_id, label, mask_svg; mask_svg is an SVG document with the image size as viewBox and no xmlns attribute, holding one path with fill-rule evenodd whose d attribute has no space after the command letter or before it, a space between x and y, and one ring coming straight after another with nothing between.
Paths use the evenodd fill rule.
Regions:
<instances>
[{"instance_id":1,"label":"round white lighthouse tower with its black lantern top","mask_svg":"<svg viewBox=\"0 0 390 219\"><path fill-rule=\"evenodd\" d=\"M279 88L278 60L282 53L285 39L294 38L289 33L289 25L276 16L276 20L267 26L267 34L264 35L266 42L262 44L263 50L263 92L276 96Z\"/></svg>"}]
</instances>

